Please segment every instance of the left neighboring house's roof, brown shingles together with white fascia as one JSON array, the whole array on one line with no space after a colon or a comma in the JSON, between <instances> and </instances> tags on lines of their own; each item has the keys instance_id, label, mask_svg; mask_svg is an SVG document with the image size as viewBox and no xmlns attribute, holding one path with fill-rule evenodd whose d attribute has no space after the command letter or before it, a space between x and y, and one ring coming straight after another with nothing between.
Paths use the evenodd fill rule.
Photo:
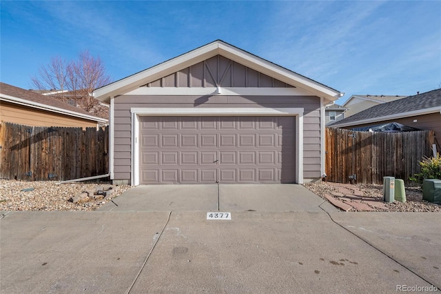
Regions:
<instances>
[{"instance_id":1,"label":"left neighboring house's roof, brown shingles together with white fascia","mask_svg":"<svg viewBox=\"0 0 441 294\"><path fill-rule=\"evenodd\" d=\"M9 84L0 82L0 100L8 101L14 104L21 104L32 108L39 108L50 112L57 112L63 115L79 117L92 121L107 122L107 119L96 117L89 112L76 108L59 99L44 96L30 90L25 90Z\"/></svg>"}]
</instances>

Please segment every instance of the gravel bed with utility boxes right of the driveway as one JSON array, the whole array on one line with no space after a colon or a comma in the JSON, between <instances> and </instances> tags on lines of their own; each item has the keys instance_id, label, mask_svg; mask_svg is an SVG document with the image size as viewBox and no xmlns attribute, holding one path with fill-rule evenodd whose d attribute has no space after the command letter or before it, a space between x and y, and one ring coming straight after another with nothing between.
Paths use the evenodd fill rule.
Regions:
<instances>
[{"instance_id":1,"label":"gravel bed with utility boxes right of the driveway","mask_svg":"<svg viewBox=\"0 0 441 294\"><path fill-rule=\"evenodd\" d=\"M369 211L388 211L388 212L437 212L441 213L441 205L433 204L422 200L422 190L420 187L406 187L407 202L382 202L383 186L376 184L338 184L331 182L318 182L304 184L305 188L326 199L325 195L339 199L347 204L353 204L353 200L342 195L341 190L347 189L355 195L359 195L358 202L369 206ZM372 204L380 205L372 205ZM360 211L351 209L350 211ZM366 211L366 210L363 210Z\"/></svg>"}]
</instances>

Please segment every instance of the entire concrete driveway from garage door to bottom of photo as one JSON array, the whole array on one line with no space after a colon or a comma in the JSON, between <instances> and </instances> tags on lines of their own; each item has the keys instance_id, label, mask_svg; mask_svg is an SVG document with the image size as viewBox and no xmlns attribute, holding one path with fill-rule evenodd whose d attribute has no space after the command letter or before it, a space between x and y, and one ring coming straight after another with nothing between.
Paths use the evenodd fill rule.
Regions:
<instances>
[{"instance_id":1,"label":"entire concrete driveway from garage door to bottom of photo","mask_svg":"<svg viewBox=\"0 0 441 294\"><path fill-rule=\"evenodd\" d=\"M0 292L441 287L439 213L341 213L298 185L136 187L114 202L94 212L3 212ZM208 220L218 208L232 219Z\"/></svg>"}]
</instances>

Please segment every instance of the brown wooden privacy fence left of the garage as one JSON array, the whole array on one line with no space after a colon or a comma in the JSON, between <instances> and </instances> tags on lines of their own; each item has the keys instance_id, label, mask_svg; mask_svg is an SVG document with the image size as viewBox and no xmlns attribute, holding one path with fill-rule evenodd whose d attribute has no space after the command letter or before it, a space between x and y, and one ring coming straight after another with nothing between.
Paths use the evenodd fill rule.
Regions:
<instances>
[{"instance_id":1,"label":"brown wooden privacy fence left of the garage","mask_svg":"<svg viewBox=\"0 0 441 294\"><path fill-rule=\"evenodd\" d=\"M109 130L0 124L0 178L68 180L108 172Z\"/></svg>"}]
</instances>

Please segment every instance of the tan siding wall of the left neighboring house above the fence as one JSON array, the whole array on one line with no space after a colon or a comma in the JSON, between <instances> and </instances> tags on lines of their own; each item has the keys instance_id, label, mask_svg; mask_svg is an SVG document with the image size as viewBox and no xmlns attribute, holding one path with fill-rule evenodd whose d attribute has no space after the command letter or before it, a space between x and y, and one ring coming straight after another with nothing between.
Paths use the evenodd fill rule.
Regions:
<instances>
[{"instance_id":1,"label":"tan siding wall of the left neighboring house above the fence","mask_svg":"<svg viewBox=\"0 0 441 294\"><path fill-rule=\"evenodd\" d=\"M13 124L23 124L25 126L64 126L96 128L96 121L62 115L61 113L50 112L38 108L31 108L19 104L1 101L0 104L1 121Z\"/></svg>"}]
</instances>

